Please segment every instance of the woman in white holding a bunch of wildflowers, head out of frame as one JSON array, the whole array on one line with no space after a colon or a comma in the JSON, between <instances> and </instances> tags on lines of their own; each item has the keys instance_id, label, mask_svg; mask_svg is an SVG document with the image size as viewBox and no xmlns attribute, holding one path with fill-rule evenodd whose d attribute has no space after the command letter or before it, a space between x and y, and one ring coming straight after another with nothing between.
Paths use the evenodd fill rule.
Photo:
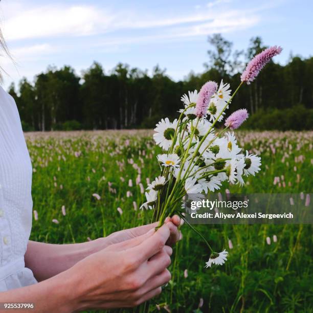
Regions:
<instances>
[{"instance_id":1,"label":"woman in white holding a bunch of wildflowers, head out of frame","mask_svg":"<svg viewBox=\"0 0 313 313\"><path fill-rule=\"evenodd\" d=\"M0 39L2 36L0 34ZM0 42L4 51L4 41ZM29 241L32 166L13 98L0 87L0 303L38 312L136 306L170 280L177 216L77 244ZM0 307L1 309L1 307Z\"/></svg>"}]
</instances>

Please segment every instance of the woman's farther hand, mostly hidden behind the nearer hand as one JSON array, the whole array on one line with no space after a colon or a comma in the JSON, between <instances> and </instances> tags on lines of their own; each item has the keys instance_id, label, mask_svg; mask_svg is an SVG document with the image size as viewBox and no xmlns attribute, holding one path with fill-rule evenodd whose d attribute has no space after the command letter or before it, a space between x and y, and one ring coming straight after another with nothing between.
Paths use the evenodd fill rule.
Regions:
<instances>
[{"instance_id":1,"label":"woman's farther hand, mostly hidden behind the nearer hand","mask_svg":"<svg viewBox=\"0 0 313 313\"><path fill-rule=\"evenodd\" d=\"M172 217L167 217L165 219L164 223L169 226L169 229L170 229L170 232L171 232L170 237L169 237L168 241L166 242L166 244L172 246L178 240L180 240L180 238L181 238L181 233L177 229L177 227L180 226L181 218L178 215L174 215ZM98 243L100 245L104 244L104 247L107 247L110 244L119 243L119 242L122 242L122 241L125 241L125 240L129 240L129 239L136 238L138 236L144 235L149 230L157 227L158 225L159 225L159 222L155 222L155 223L144 225L144 226L139 226L139 227L135 227L135 228L125 229L125 230L122 230L122 231L118 231L118 232L112 233L112 234L110 234L109 236L107 236L105 238L99 238L100 240L96 239L95 243L98 240Z\"/></svg>"}]
</instances>

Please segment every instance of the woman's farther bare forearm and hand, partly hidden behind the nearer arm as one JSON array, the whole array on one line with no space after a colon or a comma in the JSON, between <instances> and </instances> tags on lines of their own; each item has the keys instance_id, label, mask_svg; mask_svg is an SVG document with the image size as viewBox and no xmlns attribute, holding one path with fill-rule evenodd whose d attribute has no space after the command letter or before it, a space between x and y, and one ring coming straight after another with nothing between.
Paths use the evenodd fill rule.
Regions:
<instances>
[{"instance_id":1,"label":"woman's farther bare forearm and hand, partly hidden behind the nearer arm","mask_svg":"<svg viewBox=\"0 0 313 313\"><path fill-rule=\"evenodd\" d=\"M172 245L179 239L179 233L176 227L180 225L181 220L177 215L174 215L172 218L167 218L165 222L171 232L166 244ZM96 253L111 244L146 234L150 229L157 226L158 222L126 229L105 238L98 238L82 243L51 244L30 240L25 254L25 265L33 271L38 281L42 281L70 269L70 267L88 255Z\"/></svg>"}]
</instances>

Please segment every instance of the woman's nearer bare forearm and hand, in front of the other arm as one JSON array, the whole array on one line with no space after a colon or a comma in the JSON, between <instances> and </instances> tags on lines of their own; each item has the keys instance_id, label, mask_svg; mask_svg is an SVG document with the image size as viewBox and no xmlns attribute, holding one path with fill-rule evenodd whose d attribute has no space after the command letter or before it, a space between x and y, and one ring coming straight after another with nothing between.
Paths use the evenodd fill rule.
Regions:
<instances>
[{"instance_id":1,"label":"woman's nearer bare forearm and hand, in front of the other arm","mask_svg":"<svg viewBox=\"0 0 313 313\"><path fill-rule=\"evenodd\" d=\"M0 302L34 303L35 312L139 305L161 293L171 275L169 225L94 253L50 279L0 293Z\"/></svg>"}]
</instances>

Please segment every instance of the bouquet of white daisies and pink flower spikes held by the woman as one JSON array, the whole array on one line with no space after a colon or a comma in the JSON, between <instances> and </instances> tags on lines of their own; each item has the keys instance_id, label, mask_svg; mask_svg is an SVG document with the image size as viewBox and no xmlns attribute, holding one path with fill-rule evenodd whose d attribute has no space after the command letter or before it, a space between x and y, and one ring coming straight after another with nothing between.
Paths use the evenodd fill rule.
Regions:
<instances>
[{"instance_id":1,"label":"bouquet of white daisies and pink flower spikes held by the woman","mask_svg":"<svg viewBox=\"0 0 313 313\"><path fill-rule=\"evenodd\" d=\"M161 175L148 185L147 202L141 206L154 210L153 221L159 220L161 226L167 216L178 214L184 218L181 204L186 194L214 192L222 182L243 185L244 176L255 175L260 170L260 157L248 151L243 153L233 132L248 118L246 109L231 114L225 120L225 128L217 131L214 126L225 117L241 85L250 84L281 50L274 46L256 55L242 73L241 83L233 94L228 83L221 81L218 86L208 81L199 92L195 90L182 97L184 107L178 119L171 122L165 118L157 124L153 138L164 149L157 157ZM225 263L228 252L215 252L199 235L210 250L206 267Z\"/></svg>"}]
</instances>

